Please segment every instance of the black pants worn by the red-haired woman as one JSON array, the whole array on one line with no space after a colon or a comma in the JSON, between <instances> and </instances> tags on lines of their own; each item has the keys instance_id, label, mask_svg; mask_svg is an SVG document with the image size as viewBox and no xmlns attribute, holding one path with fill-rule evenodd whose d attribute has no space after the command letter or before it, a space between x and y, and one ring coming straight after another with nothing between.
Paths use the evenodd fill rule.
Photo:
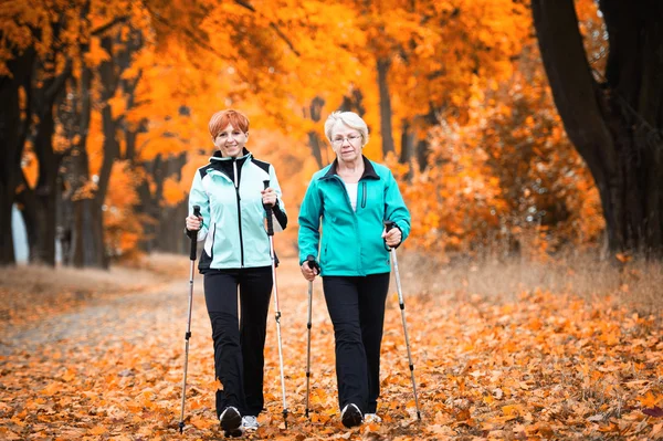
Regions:
<instances>
[{"instance_id":1,"label":"black pants worn by the red-haired woman","mask_svg":"<svg viewBox=\"0 0 663 441\"><path fill-rule=\"evenodd\" d=\"M240 317L238 317L238 286ZM210 271L204 274L204 301L212 323L214 370L223 389L217 391L217 417L227 406L240 413L261 412L265 332L272 267Z\"/></svg>"}]
</instances>

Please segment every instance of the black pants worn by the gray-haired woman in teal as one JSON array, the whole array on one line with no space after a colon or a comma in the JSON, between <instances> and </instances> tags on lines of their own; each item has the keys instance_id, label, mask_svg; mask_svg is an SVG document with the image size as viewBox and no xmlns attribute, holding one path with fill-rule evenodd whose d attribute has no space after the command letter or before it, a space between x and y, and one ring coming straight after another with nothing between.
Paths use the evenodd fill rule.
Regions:
<instances>
[{"instance_id":1,"label":"black pants worn by the gray-haired woman in teal","mask_svg":"<svg viewBox=\"0 0 663 441\"><path fill-rule=\"evenodd\" d=\"M380 396L380 346L389 273L325 276L323 287L336 339L338 403L375 413Z\"/></svg>"}]
</instances>

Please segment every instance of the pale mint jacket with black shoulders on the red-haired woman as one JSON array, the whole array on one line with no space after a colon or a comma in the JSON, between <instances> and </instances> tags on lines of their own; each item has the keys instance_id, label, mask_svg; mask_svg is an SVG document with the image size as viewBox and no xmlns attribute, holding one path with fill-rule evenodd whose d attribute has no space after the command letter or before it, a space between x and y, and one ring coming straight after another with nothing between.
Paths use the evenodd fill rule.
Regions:
<instances>
[{"instance_id":1,"label":"pale mint jacket with black shoulders on the red-haired woman","mask_svg":"<svg viewBox=\"0 0 663 441\"><path fill-rule=\"evenodd\" d=\"M200 206L198 241L204 241L198 264L201 273L272 265L261 195L264 180L276 191L273 223L274 231L281 231L287 217L271 164L244 149L244 156L236 159L223 158L217 151L210 164L198 169L189 193L189 213L193 206Z\"/></svg>"}]
</instances>

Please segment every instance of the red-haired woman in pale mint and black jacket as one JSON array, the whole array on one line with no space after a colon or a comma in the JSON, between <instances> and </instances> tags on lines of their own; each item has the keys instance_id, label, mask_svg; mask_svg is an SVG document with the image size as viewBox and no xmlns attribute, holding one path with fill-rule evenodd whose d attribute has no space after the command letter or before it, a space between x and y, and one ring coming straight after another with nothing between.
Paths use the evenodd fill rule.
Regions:
<instances>
[{"instance_id":1,"label":"red-haired woman in pale mint and black jacket","mask_svg":"<svg viewBox=\"0 0 663 441\"><path fill-rule=\"evenodd\" d=\"M275 231L285 229L287 217L274 167L245 148L246 116L233 109L218 112L209 130L218 151L193 177L186 224L187 232L198 231L198 241L204 241L198 267L220 381L217 417L228 434L241 434L257 429L264 405L264 346L273 285L264 206L272 207ZM270 186L264 189L266 180ZM200 218L192 214L193 206L200 207Z\"/></svg>"}]
</instances>

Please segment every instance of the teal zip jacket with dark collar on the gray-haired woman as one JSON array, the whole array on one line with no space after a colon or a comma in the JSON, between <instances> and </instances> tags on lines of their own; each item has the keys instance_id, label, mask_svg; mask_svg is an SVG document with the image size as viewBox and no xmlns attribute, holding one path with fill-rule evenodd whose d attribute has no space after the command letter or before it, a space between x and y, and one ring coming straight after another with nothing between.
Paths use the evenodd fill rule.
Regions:
<instances>
[{"instance_id":1,"label":"teal zip jacket with dark collar on the gray-haired woman","mask_svg":"<svg viewBox=\"0 0 663 441\"><path fill-rule=\"evenodd\" d=\"M354 211L336 167L335 160L313 175L306 190L299 209L299 265L313 255L323 276L388 273L391 266L382 239L383 221L396 222L402 241L410 233L410 212L398 183L387 167L364 157Z\"/></svg>"}]
</instances>

